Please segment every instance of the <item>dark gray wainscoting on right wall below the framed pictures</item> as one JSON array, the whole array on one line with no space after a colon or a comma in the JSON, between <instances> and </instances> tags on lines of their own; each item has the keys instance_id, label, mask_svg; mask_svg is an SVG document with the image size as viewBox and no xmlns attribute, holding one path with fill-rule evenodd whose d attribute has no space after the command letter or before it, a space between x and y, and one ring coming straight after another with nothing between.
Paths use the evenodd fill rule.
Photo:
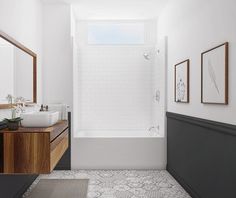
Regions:
<instances>
[{"instance_id":1,"label":"dark gray wainscoting on right wall below the framed pictures","mask_svg":"<svg viewBox=\"0 0 236 198\"><path fill-rule=\"evenodd\" d=\"M236 198L236 126L168 112L167 170L193 198Z\"/></svg>"}]
</instances>

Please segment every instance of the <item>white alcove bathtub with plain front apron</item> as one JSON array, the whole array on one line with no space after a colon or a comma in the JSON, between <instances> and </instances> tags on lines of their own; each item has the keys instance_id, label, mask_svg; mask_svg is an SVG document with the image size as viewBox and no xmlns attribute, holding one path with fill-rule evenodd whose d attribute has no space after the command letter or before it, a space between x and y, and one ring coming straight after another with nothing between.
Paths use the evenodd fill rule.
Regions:
<instances>
[{"instance_id":1,"label":"white alcove bathtub with plain front apron","mask_svg":"<svg viewBox=\"0 0 236 198\"><path fill-rule=\"evenodd\" d=\"M146 130L86 130L72 138L72 169L165 169L166 138Z\"/></svg>"}]
</instances>

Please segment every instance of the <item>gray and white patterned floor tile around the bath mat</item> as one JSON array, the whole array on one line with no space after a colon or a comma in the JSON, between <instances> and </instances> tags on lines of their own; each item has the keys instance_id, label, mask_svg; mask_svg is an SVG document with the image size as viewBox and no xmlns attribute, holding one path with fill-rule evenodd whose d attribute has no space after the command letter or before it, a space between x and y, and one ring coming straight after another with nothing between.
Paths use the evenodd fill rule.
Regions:
<instances>
[{"instance_id":1,"label":"gray and white patterned floor tile around the bath mat","mask_svg":"<svg viewBox=\"0 0 236 198\"><path fill-rule=\"evenodd\" d=\"M191 198L165 170L73 170L40 175L23 197L40 179L89 179L88 198Z\"/></svg>"}]
</instances>

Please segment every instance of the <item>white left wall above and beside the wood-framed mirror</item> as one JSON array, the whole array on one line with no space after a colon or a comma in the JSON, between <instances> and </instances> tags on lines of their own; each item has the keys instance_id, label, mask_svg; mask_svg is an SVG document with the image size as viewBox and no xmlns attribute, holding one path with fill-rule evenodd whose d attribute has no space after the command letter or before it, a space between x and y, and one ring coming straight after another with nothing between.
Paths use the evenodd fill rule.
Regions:
<instances>
[{"instance_id":1,"label":"white left wall above and beside the wood-framed mirror","mask_svg":"<svg viewBox=\"0 0 236 198\"><path fill-rule=\"evenodd\" d=\"M0 30L38 56L38 101L41 101L42 5L40 0L1 0ZM8 115L0 110L0 120Z\"/></svg>"}]
</instances>

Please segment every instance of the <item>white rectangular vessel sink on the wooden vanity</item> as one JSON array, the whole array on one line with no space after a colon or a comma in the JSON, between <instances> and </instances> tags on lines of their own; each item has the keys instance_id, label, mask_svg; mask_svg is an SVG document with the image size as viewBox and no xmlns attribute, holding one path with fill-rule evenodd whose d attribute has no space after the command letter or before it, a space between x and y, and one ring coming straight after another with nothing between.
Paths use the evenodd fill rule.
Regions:
<instances>
[{"instance_id":1,"label":"white rectangular vessel sink on the wooden vanity","mask_svg":"<svg viewBox=\"0 0 236 198\"><path fill-rule=\"evenodd\" d=\"M21 124L23 127L49 127L59 120L58 111L42 111L22 113Z\"/></svg>"}]
</instances>

